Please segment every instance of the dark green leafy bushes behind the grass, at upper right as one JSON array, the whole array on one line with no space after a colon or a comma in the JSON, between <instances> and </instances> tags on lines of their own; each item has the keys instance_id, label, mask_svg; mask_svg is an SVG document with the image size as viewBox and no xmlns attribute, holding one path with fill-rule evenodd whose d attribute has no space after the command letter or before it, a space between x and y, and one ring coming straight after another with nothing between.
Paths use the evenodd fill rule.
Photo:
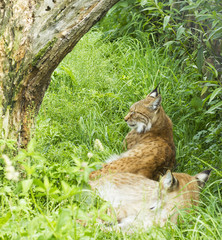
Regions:
<instances>
[{"instance_id":1,"label":"dark green leafy bushes behind the grass, at upper right","mask_svg":"<svg viewBox=\"0 0 222 240\"><path fill-rule=\"evenodd\" d=\"M112 41L124 35L141 39L142 31L148 33L146 37L153 44L163 44L170 50L169 54L180 59L181 66L196 70L201 87L199 95L209 108L206 113L217 113L222 106L221 11L220 1L215 0L121 1L101 26L111 28L105 33ZM110 19L115 19L116 24ZM136 28L133 28L133 19L136 19Z\"/></svg>"}]
</instances>

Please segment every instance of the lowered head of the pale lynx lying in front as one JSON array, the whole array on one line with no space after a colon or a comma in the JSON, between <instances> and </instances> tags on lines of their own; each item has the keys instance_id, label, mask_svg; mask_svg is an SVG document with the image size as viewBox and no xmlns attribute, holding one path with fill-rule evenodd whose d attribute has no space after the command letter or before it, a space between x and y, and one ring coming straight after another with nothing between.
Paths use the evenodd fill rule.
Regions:
<instances>
[{"instance_id":1,"label":"lowered head of the pale lynx lying in front","mask_svg":"<svg viewBox=\"0 0 222 240\"><path fill-rule=\"evenodd\" d=\"M211 170L205 170L195 176L186 173L171 173L170 170L160 180L161 221L171 215L171 221L177 222L177 209L186 209L198 205L201 188L204 187Z\"/></svg>"}]
</instances>

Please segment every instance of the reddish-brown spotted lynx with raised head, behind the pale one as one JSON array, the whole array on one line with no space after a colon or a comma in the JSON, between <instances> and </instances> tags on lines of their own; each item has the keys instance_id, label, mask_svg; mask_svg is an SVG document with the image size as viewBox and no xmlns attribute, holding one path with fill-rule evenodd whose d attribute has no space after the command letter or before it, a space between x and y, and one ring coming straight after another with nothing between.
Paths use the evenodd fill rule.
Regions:
<instances>
[{"instance_id":1,"label":"reddish-brown spotted lynx with raised head, behind the pale one","mask_svg":"<svg viewBox=\"0 0 222 240\"><path fill-rule=\"evenodd\" d=\"M157 88L134 103L124 119L132 128L125 138L128 150L92 172L90 178L128 172L158 180L167 169L173 168L175 146L172 122L161 106Z\"/></svg>"}]
</instances>

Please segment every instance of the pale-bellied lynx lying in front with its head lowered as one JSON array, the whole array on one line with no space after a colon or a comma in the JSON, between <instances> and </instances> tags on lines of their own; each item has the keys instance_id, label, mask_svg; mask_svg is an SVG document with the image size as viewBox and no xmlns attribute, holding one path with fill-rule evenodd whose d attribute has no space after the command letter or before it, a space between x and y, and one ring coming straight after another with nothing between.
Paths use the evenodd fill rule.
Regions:
<instances>
[{"instance_id":1,"label":"pale-bellied lynx lying in front with its head lowered","mask_svg":"<svg viewBox=\"0 0 222 240\"><path fill-rule=\"evenodd\" d=\"M127 231L154 224L163 226L168 219L176 223L178 209L198 204L200 187L209 174L210 170L195 176L168 170L157 182L132 173L116 173L91 181L90 185L111 203L118 226Z\"/></svg>"}]
</instances>

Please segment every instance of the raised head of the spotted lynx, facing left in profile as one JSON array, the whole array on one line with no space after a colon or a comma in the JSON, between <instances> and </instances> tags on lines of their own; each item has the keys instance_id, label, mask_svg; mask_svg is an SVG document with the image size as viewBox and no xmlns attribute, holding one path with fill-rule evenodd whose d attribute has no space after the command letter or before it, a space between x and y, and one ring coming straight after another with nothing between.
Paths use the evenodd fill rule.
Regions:
<instances>
[{"instance_id":1,"label":"raised head of the spotted lynx, facing left in profile","mask_svg":"<svg viewBox=\"0 0 222 240\"><path fill-rule=\"evenodd\" d=\"M161 96L156 87L145 99L131 106L124 120L130 128L134 128L138 133L145 133L158 119L160 109Z\"/></svg>"}]
</instances>

